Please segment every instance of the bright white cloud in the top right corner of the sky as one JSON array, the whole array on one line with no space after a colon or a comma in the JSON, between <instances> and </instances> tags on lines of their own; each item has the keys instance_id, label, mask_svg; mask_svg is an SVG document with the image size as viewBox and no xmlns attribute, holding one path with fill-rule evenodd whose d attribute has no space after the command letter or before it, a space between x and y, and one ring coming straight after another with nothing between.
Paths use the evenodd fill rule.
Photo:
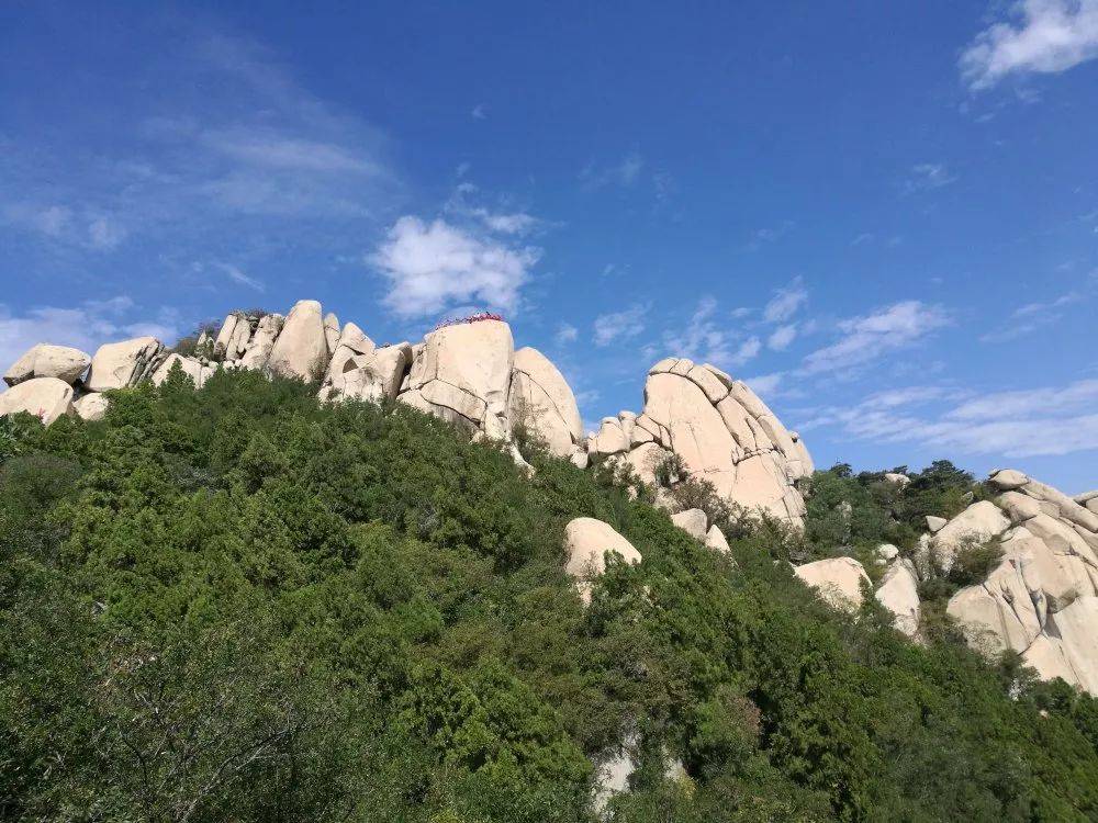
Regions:
<instances>
[{"instance_id":1,"label":"bright white cloud in the top right corner of the sky","mask_svg":"<svg viewBox=\"0 0 1098 823\"><path fill-rule=\"evenodd\" d=\"M961 55L961 76L973 91L1008 75L1055 74L1098 57L1098 0L1020 0L1009 14Z\"/></svg>"}]
</instances>

